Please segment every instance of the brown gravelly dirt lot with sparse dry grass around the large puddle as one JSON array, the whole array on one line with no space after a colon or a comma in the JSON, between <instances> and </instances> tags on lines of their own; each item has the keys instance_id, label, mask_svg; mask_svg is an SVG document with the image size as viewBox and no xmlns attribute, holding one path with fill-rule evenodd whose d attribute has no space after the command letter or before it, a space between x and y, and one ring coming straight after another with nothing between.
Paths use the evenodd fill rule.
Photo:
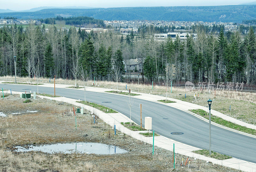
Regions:
<instances>
[{"instance_id":1,"label":"brown gravelly dirt lot with sparse dry grass around the large puddle","mask_svg":"<svg viewBox=\"0 0 256 172\"><path fill-rule=\"evenodd\" d=\"M73 108L70 104L48 99L23 101L18 95L0 99L0 112L7 115L0 117L0 171L171 171L173 168L172 152L155 147L152 157L152 145L119 131L115 136L113 129L100 119L94 124L88 111L77 114L76 130L75 116L64 114ZM129 152L97 155L13 151L17 145L70 142L116 145ZM180 167L182 155L176 157L176 171L238 171L202 160L191 161L189 168Z\"/></svg>"}]
</instances>

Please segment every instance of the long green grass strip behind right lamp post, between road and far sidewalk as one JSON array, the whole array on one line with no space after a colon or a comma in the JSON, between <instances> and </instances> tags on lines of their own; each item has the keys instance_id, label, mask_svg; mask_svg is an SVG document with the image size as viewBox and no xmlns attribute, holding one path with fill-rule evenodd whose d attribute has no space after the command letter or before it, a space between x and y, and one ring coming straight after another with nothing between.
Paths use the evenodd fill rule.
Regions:
<instances>
[{"instance_id":1,"label":"long green grass strip behind right lamp post, between road and far sidewalk","mask_svg":"<svg viewBox=\"0 0 256 172\"><path fill-rule=\"evenodd\" d=\"M189 110L189 111L191 111L193 113L196 113L196 114L204 117L205 119L209 120L209 115L203 109L193 109L193 110ZM235 124L233 122L224 120L224 119L222 119L218 116L211 115L211 121L215 122L217 124L223 125L225 127L228 127L228 128L231 128L231 129L236 129L238 131L242 131L242 132L245 132L245 133L252 134L252 135L256 136L256 130L255 129L250 129L250 128Z\"/></svg>"}]
</instances>

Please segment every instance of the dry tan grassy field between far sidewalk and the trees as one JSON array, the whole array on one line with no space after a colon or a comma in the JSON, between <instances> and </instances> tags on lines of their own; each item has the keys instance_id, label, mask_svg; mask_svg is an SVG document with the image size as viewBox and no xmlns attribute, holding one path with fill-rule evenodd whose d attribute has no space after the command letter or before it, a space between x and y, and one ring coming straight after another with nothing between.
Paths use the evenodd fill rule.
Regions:
<instances>
[{"instance_id":1,"label":"dry tan grassy field between far sidewalk and the trees","mask_svg":"<svg viewBox=\"0 0 256 172\"><path fill-rule=\"evenodd\" d=\"M42 82L49 83L49 78L39 78ZM3 76L0 77L2 81L14 81L14 76ZM29 80L28 77L17 77L17 81L27 82ZM93 81L87 81L85 85L92 86ZM107 81L97 81L97 87L100 88L108 88L116 90L116 82L107 82ZM65 79L56 79L57 84L69 84L75 85L74 80L65 80ZM83 81L77 80L78 85L84 85ZM100 86L99 86L100 85ZM134 92L141 92L147 94L154 94L159 96L164 96L166 94L166 87L164 86L155 86L152 90L152 85L144 85L144 84L130 84L119 82L118 89L126 90L131 89ZM96 86L92 86L96 87ZM256 125L256 92L255 91L234 91L234 90L185 90L180 87L168 87L169 90L167 97L175 98L183 101L187 101L190 103L194 103L197 105L201 105L204 107L208 106L207 100L211 98L214 101L212 102L212 109L219 111L220 113L224 113L228 116L236 118L240 121L244 121L253 125ZM196 94L196 99L193 94ZM199 93L199 96L198 96ZM186 94L186 98L185 98ZM231 105L231 110L229 111L229 106Z\"/></svg>"}]
</instances>

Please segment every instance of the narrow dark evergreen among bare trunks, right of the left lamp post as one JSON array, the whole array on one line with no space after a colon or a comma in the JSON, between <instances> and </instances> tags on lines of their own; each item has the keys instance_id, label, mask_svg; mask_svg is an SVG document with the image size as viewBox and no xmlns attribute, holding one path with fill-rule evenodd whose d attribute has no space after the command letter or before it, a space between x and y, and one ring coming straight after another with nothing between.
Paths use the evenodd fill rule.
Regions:
<instances>
[{"instance_id":1,"label":"narrow dark evergreen among bare trunks, right of the left lamp post","mask_svg":"<svg viewBox=\"0 0 256 172\"><path fill-rule=\"evenodd\" d=\"M46 45L46 49L44 53L44 64L45 64L45 76L51 77L53 67L54 67L54 61L53 61L53 54L52 54L52 46L50 43Z\"/></svg>"}]
</instances>

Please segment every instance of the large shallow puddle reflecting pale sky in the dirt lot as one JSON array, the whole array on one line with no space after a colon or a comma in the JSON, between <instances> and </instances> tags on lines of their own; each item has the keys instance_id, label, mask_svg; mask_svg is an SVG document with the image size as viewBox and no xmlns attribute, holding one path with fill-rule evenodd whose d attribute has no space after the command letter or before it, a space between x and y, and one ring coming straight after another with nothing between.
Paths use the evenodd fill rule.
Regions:
<instances>
[{"instance_id":1,"label":"large shallow puddle reflecting pale sky in the dirt lot","mask_svg":"<svg viewBox=\"0 0 256 172\"><path fill-rule=\"evenodd\" d=\"M41 151L45 153L94 153L94 154L115 154L126 153L127 151L117 146L106 145L101 143L58 143L52 145L29 145L28 147L16 146L17 152Z\"/></svg>"}]
</instances>

